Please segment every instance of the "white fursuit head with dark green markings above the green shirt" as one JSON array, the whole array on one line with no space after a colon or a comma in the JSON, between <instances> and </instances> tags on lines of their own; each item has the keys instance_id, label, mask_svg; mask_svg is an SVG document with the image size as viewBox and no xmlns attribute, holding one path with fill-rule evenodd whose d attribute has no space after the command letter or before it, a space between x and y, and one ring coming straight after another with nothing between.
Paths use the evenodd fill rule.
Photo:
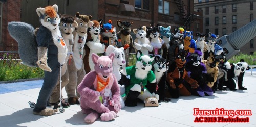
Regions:
<instances>
[{"instance_id":1,"label":"white fursuit head with dark green markings above the green shirt","mask_svg":"<svg viewBox=\"0 0 256 127\"><path fill-rule=\"evenodd\" d=\"M137 79L146 79L147 73L152 69L152 62L155 57L150 57L148 55L143 55L140 50L136 53L136 73L135 77Z\"/></svg>"}]
</instances>

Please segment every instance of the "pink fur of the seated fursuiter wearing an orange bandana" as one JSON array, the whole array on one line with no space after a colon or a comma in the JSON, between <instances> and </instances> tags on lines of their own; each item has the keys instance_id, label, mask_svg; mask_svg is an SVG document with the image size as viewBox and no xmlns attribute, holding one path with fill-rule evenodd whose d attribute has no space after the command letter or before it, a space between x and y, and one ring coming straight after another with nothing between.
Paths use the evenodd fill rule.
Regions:
<instances>
[{"instance_id":1,"label":"pink fur of the seated fursuiter wearing an orange bandana","mask_svg":"<svg viewBox=\"0 0 256 127\"><path fill-rule=\"evenodd\" d=\"M77 87L77 91L81 95L80 106L82 112L88 115L84 120L88 123L93 123L99 117L96 115L98 113L98 115L101 115L102 121L110 121L116 117L116 113L118 113L121 107L119 101L120 88L112 74L113 68L111 63L114 59L114 53L102 57L93 54L92 59L95 64L95 71L89 72ZM100 68L100 65L103 65L103 67ZM99 75L103 80L103 76L109 78L108 88L112 92L111 105L104 106L101 104L99 100L100 92L96 91L96 75Z\"/></svg>"}]
</instances>

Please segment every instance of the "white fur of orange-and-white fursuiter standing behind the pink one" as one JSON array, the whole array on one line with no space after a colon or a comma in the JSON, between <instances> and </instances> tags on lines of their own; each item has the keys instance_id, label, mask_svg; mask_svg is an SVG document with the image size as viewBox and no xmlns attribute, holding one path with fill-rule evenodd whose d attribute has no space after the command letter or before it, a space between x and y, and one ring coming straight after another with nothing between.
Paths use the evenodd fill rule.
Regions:
<instances>
[{"instance_id":1,"label":"white fur of orange-and-white fursuiter standing behind the pink one","mask_svg":"<svg viewBox=\"0 0 256 127\"><path fill-rule=\"evenodd\" d=\"M96 30L98 30L98 32ZM89 32L92 36L93 41L88 41L86 44L90 48L89 58L91 58L93 53L95 54L104 53L105 44L100 43L100 39L99 39L100 29L95 27L91 29ZM97 35L95 35L95 33L97 33ZM91 71L94 71L94 63L92 59L89 59L88 61L89 61L89 66Z\"/></svg>"}]
</instances>

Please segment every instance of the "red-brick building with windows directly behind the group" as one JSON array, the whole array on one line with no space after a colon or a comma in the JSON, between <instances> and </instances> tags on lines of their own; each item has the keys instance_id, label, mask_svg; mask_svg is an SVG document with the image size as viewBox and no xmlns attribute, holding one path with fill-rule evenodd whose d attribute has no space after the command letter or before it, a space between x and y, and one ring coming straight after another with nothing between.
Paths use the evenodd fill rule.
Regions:
<instances>
[{"instance_id":1,"label":"red-brick building with windows directly behind the group","mask_svg":"<svg viewBox=\"0 0 256 127\"><path fill-rule=\"evenodd\" d=\"M111 19L114 27L117 27L117 20L121 20L132 21L132 29L143 25L150 27L160 24L164 27L172 26L172 33L175 27L184 27L193 31L194 36L196 32L203 30L202 13L194 12L194 3L190 0L0 0L0 2L3 5L0 51L17 51L17 43L7 31L8 22L22 21L32 24L34 28L39 27L36 8L53 4L58 5L58 13L75 15L79 12L92 15L93 20L103 19L103 23ZM134 36L133 32L132 36Z\"/></svg>"}]
</instances>

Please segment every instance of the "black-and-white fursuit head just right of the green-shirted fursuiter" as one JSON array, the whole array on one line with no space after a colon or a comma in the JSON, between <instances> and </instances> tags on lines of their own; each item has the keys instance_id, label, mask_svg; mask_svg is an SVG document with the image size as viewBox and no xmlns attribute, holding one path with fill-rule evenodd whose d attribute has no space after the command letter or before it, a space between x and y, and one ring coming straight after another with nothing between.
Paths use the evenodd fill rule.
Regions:
<instances>
[{"instance_id":1,"label":"black-and-white fursuit head just right of the green-shirted fursuiter","mask_svg":"<svg viewBox=\"0 0 256 127\"><path fill-rule=\"evenodd\" d=\"M155 56L154 62L153 62L153 68L152 71L154 72L156 76L156 81L159 83L160 79L162 78L163 74L167 72L168 70L168 65L169 61L160 57L160 56Z\"/></svg>"}]
</instances>

